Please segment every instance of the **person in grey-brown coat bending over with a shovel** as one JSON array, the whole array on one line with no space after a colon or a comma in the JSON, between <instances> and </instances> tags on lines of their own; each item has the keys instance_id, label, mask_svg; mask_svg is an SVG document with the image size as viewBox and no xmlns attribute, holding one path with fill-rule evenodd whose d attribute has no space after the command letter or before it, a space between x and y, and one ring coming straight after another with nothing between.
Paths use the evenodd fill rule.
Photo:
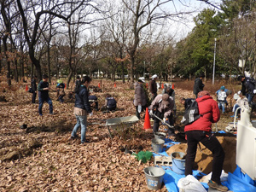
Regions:
<instances>
[{"instance_id":1,"label":"person in grey-brown coat bending over with a shovel","mask_svg":"<svg viewBox=\"0 0 256 192\"><path fill-rule=\"evenodd\" d=\"M157 132L159 130L159 124L160 124L160 119L162 120L162 123L166 123L166 119L169 120L170 116L173 111L173 106L174 102L172 99L172 96L169 96L168 94L164 95L158 95L154 98L154 101L151 103L149 106L149 114L152 116L153 115L153 110L155 108L154 115L156 115L159 119L154 118L154 126L153 126L153 131ZM168 135L169 136L174 136L174 130L173 129L168 129Z\"/></svg>"}]
</instances>

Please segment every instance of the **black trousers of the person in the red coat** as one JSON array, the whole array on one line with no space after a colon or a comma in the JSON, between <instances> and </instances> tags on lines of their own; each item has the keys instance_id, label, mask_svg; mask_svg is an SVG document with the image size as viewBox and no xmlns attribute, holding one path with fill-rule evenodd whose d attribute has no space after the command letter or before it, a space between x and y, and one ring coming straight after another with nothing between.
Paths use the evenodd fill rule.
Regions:
<instances>
[{"instance_id":1,"label":"black trousers of the person in the red coat","mask_svg":"<svg viewBox=\"0 0 256 192\"><path fill-rule=\"evenodd\" d=\"M200 142L213 154L212 160L212 181L220 184L220 175L223 168L224 162L224 150L221 147L218 139L210 132L206 131L187 131L187 142L188 149L186 155L186 166L185 166L185 175L192 175L192 170L195 162L195 154L197 149L197 144Z\"/></svg>"}]
</instances>

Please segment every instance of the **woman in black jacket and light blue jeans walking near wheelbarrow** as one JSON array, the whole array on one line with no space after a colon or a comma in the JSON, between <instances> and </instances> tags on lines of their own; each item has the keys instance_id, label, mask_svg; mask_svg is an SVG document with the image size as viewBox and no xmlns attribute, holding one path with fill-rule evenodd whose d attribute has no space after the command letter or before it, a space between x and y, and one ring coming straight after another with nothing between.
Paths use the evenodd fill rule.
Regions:
<instances>
[{"instance_id":1,"label":"woman in black jacket and light blue jeans walking near wheelbarrow","mask_svg":"<svg viewBox=\"0 0 256 192\"><path fill-rule=\"evenodd\" d=\"M85 139L86 135L86 126L87 126L87 114L92 116L92 112L90 109L89 103L89 84L91 82L90 77L84 76L81 80L81 85L79 90L76 92L76 101L73 109L73 113L76 116L77 124L74 126L71 139L75 139L78 137L77 131L79 126L81 125L81 144L88 143L88 140Z\"/></svg>"}]
</instances>

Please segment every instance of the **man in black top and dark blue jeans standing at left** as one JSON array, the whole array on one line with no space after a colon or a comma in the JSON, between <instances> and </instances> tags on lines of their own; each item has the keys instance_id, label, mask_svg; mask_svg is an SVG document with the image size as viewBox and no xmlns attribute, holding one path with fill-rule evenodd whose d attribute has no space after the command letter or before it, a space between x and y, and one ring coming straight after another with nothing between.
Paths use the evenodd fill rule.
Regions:
<instances>
[{"instance_id":1,"label":"man in black top and dark blue jeans standing at left","mask_svg":"<svg viewBox=\"0 0 256 192\"><path fill-rule=\"evenodd\" d=\"M53 105L52 101L49 98L49 83L48 83L48 76L43 75L43 80L41 80L38 84L38 99L39 99L39 108L38 113L40 116L43 115L42 108L44 102L47 102L49 104L49 113L53 114Z\"/></svg>"}]
</instances>

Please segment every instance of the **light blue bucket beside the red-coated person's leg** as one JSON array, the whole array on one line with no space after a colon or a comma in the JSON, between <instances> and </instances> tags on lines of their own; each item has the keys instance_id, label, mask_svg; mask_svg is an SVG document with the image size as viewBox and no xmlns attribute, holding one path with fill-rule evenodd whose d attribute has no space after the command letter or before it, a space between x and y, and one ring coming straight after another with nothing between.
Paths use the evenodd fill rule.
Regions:
<instances>
[{"instance_id":1,"label":"light blue bucket beside the red-coated person's leg","mask_svg":"<svg viewBox=\"0 0 256 192\"><path fill-rule=\"evenodd\" d=\"M185 160L183 156L185 154L183 152L173 152L172 156L172 171L177 174L184 175L185 174Z\"/></svg>"}]
</instances>

